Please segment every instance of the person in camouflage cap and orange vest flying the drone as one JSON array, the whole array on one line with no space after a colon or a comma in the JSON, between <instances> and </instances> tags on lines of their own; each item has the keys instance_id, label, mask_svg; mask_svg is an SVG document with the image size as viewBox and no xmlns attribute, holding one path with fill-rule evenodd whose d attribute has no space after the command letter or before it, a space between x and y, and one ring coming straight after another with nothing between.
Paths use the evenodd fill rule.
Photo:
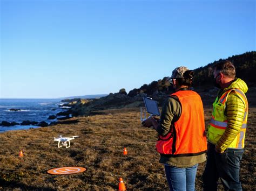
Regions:
<instances>
[{"instance_id":1,"label":"person in camouflage cap and orange vest flying the drone","mask_svg":"<svg viewBox=\"0 0 256 191\"><path fill-rule=\"evenodd\" d=\"M165 101L160 119L142 122L158 132L156 149L170 190L194 190L198 164L206 160L204 109L200 96L190 90L194 72L181 66L169 81L175 89Z\"/></svg>"}]
</instances>

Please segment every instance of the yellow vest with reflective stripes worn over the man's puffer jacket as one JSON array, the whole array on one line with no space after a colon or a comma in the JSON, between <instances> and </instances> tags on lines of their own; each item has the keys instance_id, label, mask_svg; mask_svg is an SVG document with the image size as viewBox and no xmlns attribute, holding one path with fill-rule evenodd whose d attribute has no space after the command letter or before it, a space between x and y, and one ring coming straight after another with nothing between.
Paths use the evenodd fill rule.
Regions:
<instances>
[{"instance_id":1,"label":"yellow vest with reflective stripes worn over the man's puffer jacket","mask_svg":"<svg viewBox=\"0 0 256 191\"><path fill-rule=\"evenodd\" d=\"M225 109L226 109L226 102L227 102L228 95L230 95L231 92L234 92L242 100L242 102L245 105L245 111L244 111L244 118L242 119L240 132L235 137L233 142L230 145L228 145L228 148L244 148L245 131L246 131L247 116L248 116L248 102L244 92L237 88L227 90L225 91L225 93L223 93L223 95L220 96L219 99L218 97L216 98L215 102L213 103L213 113L212 113L210 126L207 131L207 138L209 142L213 144L217 144L220 137L224 134L226 128L228 128Z\"/></svg>"}]
</instances>

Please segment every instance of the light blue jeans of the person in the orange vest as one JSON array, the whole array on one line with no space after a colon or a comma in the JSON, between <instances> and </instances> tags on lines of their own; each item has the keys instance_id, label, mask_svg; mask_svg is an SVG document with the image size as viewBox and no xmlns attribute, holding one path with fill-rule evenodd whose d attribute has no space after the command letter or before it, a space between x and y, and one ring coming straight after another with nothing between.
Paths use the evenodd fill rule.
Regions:
<instances>
[{"instance_id":1,"label":"light blue jeans of the person in the orange vest","mask_svg":"<svg viewBox=\"0 0 256 191\"><path fill-rule=\"evenodd\" d=\"M164 167L170 190L194 190L198 164L188 168L167 164Z\"/></svg>"}]
</instances>

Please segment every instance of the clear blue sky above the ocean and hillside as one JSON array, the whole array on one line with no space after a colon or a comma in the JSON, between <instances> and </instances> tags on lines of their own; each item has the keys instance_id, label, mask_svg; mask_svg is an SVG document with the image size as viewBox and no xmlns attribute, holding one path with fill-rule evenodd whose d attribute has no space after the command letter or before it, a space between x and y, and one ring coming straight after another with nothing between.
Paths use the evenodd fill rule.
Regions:
<instances>
[{"instance_id":1,"label":"clear blue sky above the ocean and hillside","mask_svg":"<svg viewBox=\"0 0 256 191\"><path fill-rule=\"evenodd\" d=\"M255 51L255 1L0 2L0 98L128 93Z\"/></svg>"}]
</instances>

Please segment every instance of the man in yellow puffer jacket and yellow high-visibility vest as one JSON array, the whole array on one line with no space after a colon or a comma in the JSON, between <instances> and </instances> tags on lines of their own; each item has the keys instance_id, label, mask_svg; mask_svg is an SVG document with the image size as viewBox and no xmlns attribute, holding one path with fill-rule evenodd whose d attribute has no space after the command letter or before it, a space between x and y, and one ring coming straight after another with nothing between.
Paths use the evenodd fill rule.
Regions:
<instances>
[{"instance_id":1,"label":"man in yellow puffer jacket and yellow high-visibility vest","mask_svg":"<svg viewBox=\"0 0 256 191\"><path fill-rule=\"evenodd\" d=\"M248 87L243 80L235 78L235 67L230 61L220 61L213 69L214 84L221 89L213 103L207 129L204 190L217 190L219 178L225 190L242 190L239 170L245 146Z\"/></svg>"}]
</instances>

